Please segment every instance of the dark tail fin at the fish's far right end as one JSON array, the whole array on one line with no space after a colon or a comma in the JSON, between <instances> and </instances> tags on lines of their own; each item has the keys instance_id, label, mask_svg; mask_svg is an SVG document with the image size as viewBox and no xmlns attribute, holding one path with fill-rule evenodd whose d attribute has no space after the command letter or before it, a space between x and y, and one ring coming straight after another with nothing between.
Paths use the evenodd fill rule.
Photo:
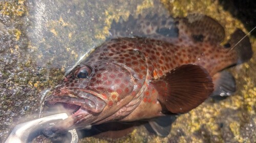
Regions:
<instances>
[{"instance_id":1,"label":"dark tail fin at the fish's far right end","mask_svg":"<svg viewBox=\"0 0 256 143\"><path fill-rule=\"evenodd\" d=\"M230 50L236 50L238 54L237 64L244 63L251 59L253 54L251 43L249 37L247 37L242 30L238 29L231 35L229 44L231 46Z\"/></svg>"}]
</instances>

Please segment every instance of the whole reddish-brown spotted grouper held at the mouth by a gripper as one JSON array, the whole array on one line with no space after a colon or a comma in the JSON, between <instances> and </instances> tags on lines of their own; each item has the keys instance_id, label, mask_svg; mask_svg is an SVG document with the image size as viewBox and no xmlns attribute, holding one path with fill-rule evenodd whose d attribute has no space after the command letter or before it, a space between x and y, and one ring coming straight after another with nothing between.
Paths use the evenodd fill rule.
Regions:
<instances>
[{"instance_id":1,"label":"whole reddish-brown spotted grouper held at the mouth by a gripper","mask_svg":"<svg viewBox=\"0 0 256 143\"><path fill-rule=\"evenodd\" d=\"M231 95L236 84L223 69L252 56L248 37L238 43L245 36L241 30L221 45L224 28L200 14L130 16L114 21L109 32L47 97L45 105L61 105L70 115L53 132L148 120L166 136L158 117L186 113L210 96Z\"/></svg>"}]
</instances>

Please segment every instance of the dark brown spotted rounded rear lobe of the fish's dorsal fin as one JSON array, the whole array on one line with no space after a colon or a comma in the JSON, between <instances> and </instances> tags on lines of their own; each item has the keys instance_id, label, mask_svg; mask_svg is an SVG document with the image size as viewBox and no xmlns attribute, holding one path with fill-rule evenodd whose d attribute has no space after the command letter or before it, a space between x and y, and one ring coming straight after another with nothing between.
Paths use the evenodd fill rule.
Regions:
<instances>
[{"instance_id":1,"label":"dark brown spotted rounded rear lobe of the fish's dorsal fin","mask_svg":"<svg viewBox=\"0 0 256 143\"><path fill-rule=\"evenodd\" d=\"M219 22L202 14L190 14L179 20L180 34L187 35L195 42L221 43L225 37Z\"/></svg>"}]
</instances>

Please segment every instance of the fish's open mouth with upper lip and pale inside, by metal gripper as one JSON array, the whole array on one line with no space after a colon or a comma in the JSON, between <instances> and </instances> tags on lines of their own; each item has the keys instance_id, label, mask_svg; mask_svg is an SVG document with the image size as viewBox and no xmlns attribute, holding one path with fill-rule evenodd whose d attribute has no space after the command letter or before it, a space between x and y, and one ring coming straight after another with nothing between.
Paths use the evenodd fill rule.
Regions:
<instances>
[{"instance_id":1,"label":"fish's open mouth with upper lip and pale inside, by metal gripper","mask_svg":"<svg viewBox=\"0 0 256 143\"><path fill-rule=\"evenodd\" d=\"M81 96L82 94L82 96ZM79 96L79 97L78 97ZM79 93L79 95L58 95L50 96L45 105L48 106L50 112L67 112L69 115L78 113L84 110L91 113L101 112L106 102L94 94L87 92Z\"/></svg>"}]
</instances>

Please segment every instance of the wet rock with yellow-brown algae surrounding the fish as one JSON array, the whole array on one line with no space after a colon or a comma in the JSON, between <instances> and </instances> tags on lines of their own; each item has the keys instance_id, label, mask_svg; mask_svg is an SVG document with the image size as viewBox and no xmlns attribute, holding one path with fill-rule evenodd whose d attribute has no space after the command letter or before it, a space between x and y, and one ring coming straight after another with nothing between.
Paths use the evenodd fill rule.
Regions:
<instances>
[{"instance_id":1,"label":"wet rock with yellow-brown algae surrounding the fish","mask_svg":"<svg viewBox=\"0 0 256 143\"><path fill-rule=\"evenodd\" d=\"M207 9L206 9L207 8ZM79 58L102 43L120 16L203 13L224 27L226 38L244 25L218 1L7 1L0 2L0 142L18 123L37 118L44 92ZM250 37L253 50L256 40ZM255 52L254 52L255 53ZM229 69L237 81L232 97L209 99L180 116L165 137L144 127L117 142L255 142L256 56ZM81 142L108 140L93 137Z\"/></svg>"}]
</instances>

